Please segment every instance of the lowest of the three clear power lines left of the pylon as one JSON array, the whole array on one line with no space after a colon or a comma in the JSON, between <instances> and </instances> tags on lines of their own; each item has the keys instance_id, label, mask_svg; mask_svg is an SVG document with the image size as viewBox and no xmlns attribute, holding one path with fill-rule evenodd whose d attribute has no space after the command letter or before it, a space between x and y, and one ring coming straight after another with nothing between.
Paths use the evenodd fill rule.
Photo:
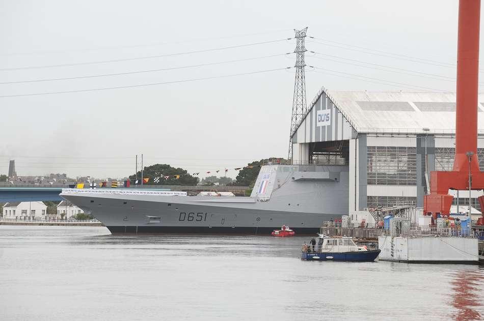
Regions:
<instances>
[{"instance_id":1,"label":"lowest of the three clear power lines left of the pylon","mask_svg":"<svg viewBox=\"0 0 484 321\"><path fill-rule=\"evenodd\" d=\"M183 80L174 80L174 81L165 81L165 82L142 83L142 84L138 84L138 85L128 85L128 86L103 87L103 88L93 88L93 89L79 89L79 90L45 92L45 93L35 93L35 94L3 95L3 96L0 96L0 98L41 96L41 95L53 95L53 94L69 94L69 93L84 93L84 92L94 92L94 91L103 91L103 90L112 90L112 89L136 88L136 87L144 87L144 86L154 86L154 85L162 85L162 84L181 83L181 82L189 82L189 81L200 81L200 80L208 80L208 79L218 79L218 78L227 78L227 77L235 77L235 76L243 76L243 75L260 74L260 73L264 73L264 72L286 70L286 69L291 69L291 68L294 68L294 67L259 70L259 71L245 72L245 73L239 73L239 74L204 77L204 78L193 78L193 79L183 79Z\"/></svg>"}]
</instances>

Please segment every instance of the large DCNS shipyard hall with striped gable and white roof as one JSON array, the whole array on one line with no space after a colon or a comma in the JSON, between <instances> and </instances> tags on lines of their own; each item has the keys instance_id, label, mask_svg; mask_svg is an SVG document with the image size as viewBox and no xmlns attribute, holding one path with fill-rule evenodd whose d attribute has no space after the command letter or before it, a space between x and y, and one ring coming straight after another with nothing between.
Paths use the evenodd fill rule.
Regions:
<instances>
[{"instance_id":1,"label":"large DCNS shipyard hall with striped gable and white roof","mask_svg":"<svg viewBox=\"0 0 484 321\"><path fill-rule=\"evenodd\" d=\"M484 170L484 95L479 95L477 154ZM348 213L353 222L379 206L422 211L430 172L452 170L455 93L321 89L292 136L294 164L348 166ZM427 174L428 175L427 175ZM450 191L468 205L469 192ZM480 210L472 191L473 207ZM338 201L335 199L334 201ZM456 208L456 207L453 207ZM460 212L467 207L460 207ZM348 214L342 213L342 214Z\"/></svg>"}]
</instances>

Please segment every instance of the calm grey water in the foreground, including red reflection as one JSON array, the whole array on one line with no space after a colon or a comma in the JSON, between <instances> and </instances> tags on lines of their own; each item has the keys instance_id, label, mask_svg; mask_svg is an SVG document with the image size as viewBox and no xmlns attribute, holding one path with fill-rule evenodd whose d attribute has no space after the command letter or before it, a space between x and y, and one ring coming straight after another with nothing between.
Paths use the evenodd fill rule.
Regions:
<instances>
[{"instance_id":1,"label":"calm grey water in the foreground, including red reflection","mask_svg":"<svg viewBox=\"0 0 484 321\"><path fill-rule=\"evenodd\" d=\"M307 238L0 225L0 320L478 320L484 269L306 262Z\"/></svg>"}]
</instances>

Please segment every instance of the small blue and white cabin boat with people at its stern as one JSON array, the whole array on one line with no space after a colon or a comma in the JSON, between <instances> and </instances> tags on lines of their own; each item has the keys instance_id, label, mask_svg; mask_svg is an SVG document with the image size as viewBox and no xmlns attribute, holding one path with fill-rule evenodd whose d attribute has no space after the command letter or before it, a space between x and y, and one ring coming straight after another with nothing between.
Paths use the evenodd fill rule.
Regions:
<instances>
[{"instance_id":1,"label":"small blue and white cabin boat with people at its stern","mask_svg":"<svg viewBox=\"0 0 484 321\"><path fill-rule=\"evenodd\" d=\"M312 239L301 248L301 259L308 261L372 262L380 254L379 249L358 246L351 237L328 237L318 234L318 242Z\"/></svg>"}]
</instances>

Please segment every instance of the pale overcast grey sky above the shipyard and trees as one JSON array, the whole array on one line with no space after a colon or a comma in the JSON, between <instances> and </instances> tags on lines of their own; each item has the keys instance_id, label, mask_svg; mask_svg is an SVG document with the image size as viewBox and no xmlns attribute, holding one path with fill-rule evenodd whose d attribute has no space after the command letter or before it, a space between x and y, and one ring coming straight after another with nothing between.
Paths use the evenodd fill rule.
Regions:
<instances>
[{"instance_id":1,"label":"pale overcast grey sky above the shipyard and trees","mask_svg":"<svg viewBox=\"0 0 484 321\"><path fill-rule=\"evenodd\" d=\"M455 91L457 15L456 0L0 0L0 173L125 177L143 154L235 177L287 157L294 28L313 37L309 104L321 86Z\"/></svg>"}]
</instances>

